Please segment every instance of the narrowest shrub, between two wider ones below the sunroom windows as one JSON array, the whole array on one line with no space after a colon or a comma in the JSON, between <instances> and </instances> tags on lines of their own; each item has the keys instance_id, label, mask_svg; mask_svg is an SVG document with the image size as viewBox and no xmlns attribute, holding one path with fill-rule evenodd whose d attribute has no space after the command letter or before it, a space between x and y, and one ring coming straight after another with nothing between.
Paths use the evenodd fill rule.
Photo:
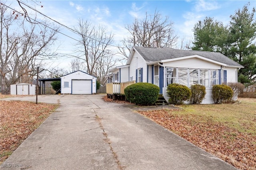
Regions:
<instances>
[{"instance_id":1,"label":"narrowest shrub, between two wider ones below the sunroom windows","mask_svg":"<svg viewBox=\"0 0 256 170\"><path fill-rule=\"evenodd\" d=\"M200 104L206 94L205 86L200 84L194 84L191 86L191 98L192 104Z\"/></svg>"}]
</instances>

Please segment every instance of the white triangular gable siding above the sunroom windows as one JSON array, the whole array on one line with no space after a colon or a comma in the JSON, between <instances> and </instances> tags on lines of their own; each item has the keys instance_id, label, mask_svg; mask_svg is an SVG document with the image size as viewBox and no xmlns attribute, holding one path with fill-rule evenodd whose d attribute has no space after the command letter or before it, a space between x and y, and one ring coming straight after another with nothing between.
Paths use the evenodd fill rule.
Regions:
<instances>
[{"instance_id":1,"label":"white triangular gable siding above the sunroom windows","mask_svg":"<svg viewBox=\"0 0 256 170\"><path fill-rule=\"evenodd\" d=\"M210 63L197 58L183 59L178 61L170 61L163 63L166 67L179 67L179 68L205 68L205 69L220 69L220 65Z\"/></svg>"}]
</instances>

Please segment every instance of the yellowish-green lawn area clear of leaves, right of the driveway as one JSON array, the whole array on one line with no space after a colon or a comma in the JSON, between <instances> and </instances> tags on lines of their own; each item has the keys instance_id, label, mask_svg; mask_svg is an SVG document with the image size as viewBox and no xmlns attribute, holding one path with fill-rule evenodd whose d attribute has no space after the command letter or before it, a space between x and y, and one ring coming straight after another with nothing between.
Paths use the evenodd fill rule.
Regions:
<instances>
[{"instance_id":1,"label":"yellowish-green lawn area clear of leaves, right of the driveway","mask_svg":"<svg viewBox=\"0 0 256 170\"><path fill-rule=\"evenodd\" d=\"M212 120L224 123L240 132L256 135L256 99L240 98L240 100L241 102L236 104L184 105L181 106L182 111L172 111L172 113L186 115L192 121L193 115L200 115L202 119L194 121Z\"/></svg>"}]
</instances>

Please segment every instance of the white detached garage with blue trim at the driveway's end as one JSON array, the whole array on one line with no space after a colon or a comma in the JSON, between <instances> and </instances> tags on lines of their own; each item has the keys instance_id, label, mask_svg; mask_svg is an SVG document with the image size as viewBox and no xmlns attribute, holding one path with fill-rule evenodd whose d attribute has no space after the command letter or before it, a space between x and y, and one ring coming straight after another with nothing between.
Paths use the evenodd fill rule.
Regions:
<instances>
[{"instance_id":1,"label":"white detached garage with blue trim at the driveway's end","mask_svg":"<svg viewBox=\"0 0 256 170\"><path fill-rule=\"evenodd\" d=\"M76 71L61 77L62 94L96 93L97 78L86 72Z\"/></svg>"}]
</instances>

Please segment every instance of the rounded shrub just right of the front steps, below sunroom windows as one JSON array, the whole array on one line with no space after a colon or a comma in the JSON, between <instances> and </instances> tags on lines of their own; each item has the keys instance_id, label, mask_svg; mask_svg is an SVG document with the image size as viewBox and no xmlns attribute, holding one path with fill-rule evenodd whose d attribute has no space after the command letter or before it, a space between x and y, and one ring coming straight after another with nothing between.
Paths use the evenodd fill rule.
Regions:
<instances>
[{"instance_id":1,"label":"rounded shrub just right of the front steps, below sunroom windows","mask_svg":"<svg viewBox=\"0 0 256 170\"><path fill-rule=\"evenodd\" d=\"M181 84L169 84L167 87L167 93L170 104L183 104L191 96L191 91L187 86Z\"/></svg>"}]
</instances>

